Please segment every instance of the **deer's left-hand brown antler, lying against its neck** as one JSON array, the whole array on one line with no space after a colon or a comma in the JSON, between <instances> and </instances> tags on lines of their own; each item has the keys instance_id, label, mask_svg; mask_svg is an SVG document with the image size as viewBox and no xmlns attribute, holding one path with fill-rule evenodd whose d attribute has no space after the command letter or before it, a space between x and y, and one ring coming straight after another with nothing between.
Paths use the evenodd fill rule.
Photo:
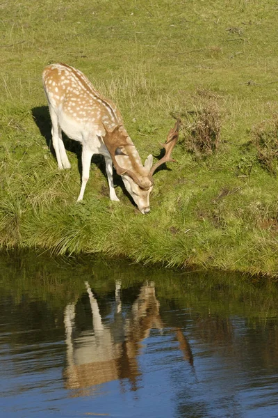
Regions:
<instances>
[{"instance_id":1,"label":"deer's left-hand brown antler, lying against its neck","mask_svg":"<svg viewBox=\"0 0 278 418\"><path fill-rule=\"evenodd\" d=\"M109 131L106 125L104 125L104 130L106 134L103 137L103 140L104 140L104 144L106 145L106 148L108 149L111 155L111 159L113 161L115 170L119 176L126 174L127 176L131 177L132 180L135 181L135 183L138 184L138 186L141 189L149 189L149 184L147 185L146 183L140 181L139 178L136 176L136 174L133 173L133 171L128 170L128 169L123 169L117 163L117 160L115 158L115 153L116 153L117 148L122 148L124 146L134 146L133 144L129 144L129 142L127 141L128 136L124 134L120 134L120 138L119 138L118 132L120 130L120 127L122 127L122 125L117 125L112 131Z\"/></svg>"}]
</instances>

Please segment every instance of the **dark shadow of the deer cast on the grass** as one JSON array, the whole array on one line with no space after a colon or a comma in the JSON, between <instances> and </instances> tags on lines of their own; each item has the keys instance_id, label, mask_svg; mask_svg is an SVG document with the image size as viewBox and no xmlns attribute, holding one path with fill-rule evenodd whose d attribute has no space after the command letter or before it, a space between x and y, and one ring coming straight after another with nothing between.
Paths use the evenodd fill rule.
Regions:
<instances>
[{"instance_id":1,"label":"dark shadow of the deer cast on the grass","mask_svg":"<svg viewBox=\"0 0 278 418\"><path fill-rule=\"evenodd\" d=\"M33 120L35 121L35 124L38 126L40 130L40 134L42 135L42 137L44 137L47 147L49 148L53 157L56 159L56 153L52 144L51 119L49 116L48 106L33 107L31 111L32 111ZM74 141L68 138L67 135L64 134L64 132L62 132L62 135L63 135L63 142L65 144L65 149L67 151L70 151L70 153L74 153L76 155L77 162L78 162L79 176L80 176L80 184L81 184L81 181L82 181L82 146L79 143L79 141ZM107 179L104 156L99 155L99 154L93 155L92 163L97 165L98 169ZM113 172L113 181L114 181L115 187L120 187L122 189L123 194L126 197L128 197L129 201L131 201L133 206L136 206L130 194L126 191L126 188L124 187L124 183L122 182L122 178L118 176L117 173L115 173L115 171ZM107 194L109 195L109 192Z\"/></svg>"}]
</instances>

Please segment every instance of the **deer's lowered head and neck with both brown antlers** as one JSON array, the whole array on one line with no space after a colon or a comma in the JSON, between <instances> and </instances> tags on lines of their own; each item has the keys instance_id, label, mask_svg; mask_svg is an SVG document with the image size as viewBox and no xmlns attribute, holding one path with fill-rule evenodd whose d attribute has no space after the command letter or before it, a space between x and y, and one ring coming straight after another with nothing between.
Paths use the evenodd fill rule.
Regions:
<instances>
[{"instance_id":1,"label":"deer's lowered head and neck with both brown antlers","mask_svg":"<svg viewBox=\"0 0 278 418\"><path fill-rule=\"evenodd\" d=\"M124 127L117 125L113 130L108 130L103 124L104 144L111 155L115 170L122 177L126 190L143 214L150 211L149 194L154 185L154 172L165 162L175 162L171 153L179 137L179 123L180 121L177 120L174 128L169 131L165 144L162 145L165 149L164 157L153 165L153 156L150 154L144 166Z\"/></svg>"}]
</instances>

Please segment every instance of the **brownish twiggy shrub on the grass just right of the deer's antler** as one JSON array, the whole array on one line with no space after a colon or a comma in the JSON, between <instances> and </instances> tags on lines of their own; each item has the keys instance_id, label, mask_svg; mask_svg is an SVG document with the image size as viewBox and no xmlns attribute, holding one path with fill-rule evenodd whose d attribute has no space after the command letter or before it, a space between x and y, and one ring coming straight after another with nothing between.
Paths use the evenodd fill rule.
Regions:
<instances>
[{"instance_id":1,"label":"brownish twiggy shrub on the grass just right of the deer's antler","mask_svg":"<svg viewBox=\"0 0 278 418\"><path fill-rule=\"evenodd\" d=\"M211 155L220 144L220 114L215 102L208 102L203 109L193 113L193 121L183 125L186 150L197 157Z\"/></svg>"}]
</instances>

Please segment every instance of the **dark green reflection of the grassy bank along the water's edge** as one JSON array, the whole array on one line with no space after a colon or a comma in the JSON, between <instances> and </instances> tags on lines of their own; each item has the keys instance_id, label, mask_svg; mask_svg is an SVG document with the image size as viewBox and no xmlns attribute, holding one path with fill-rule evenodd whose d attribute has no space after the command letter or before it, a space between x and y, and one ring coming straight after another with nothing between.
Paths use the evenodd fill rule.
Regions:
<instances>
[{"instance_id":1,"label":"dark green reflection of the grassy bank along the water's edge","mask_svg":"<svg viewBox=\"0 0 278 418\"><path fill-rule=\"evenodd\" d=\"M13 296L17 304L26 301L26 297L33 299L40 295L40 300L48 301L51 306L65 305L80 297L88 279L104 293L113 293L117 280L122 282L122 289L136 288L145 281L154 282L161 303L171 297L183 309L198 305L197 311L200 313L201 309L209 316L213 312L233 314L244 310L250 318L265 320L273 318L277 311L277 285L272 279L235 272L181 272L156 265L144 268L126 259L38 256L30 250L0 253L0 265L1 289ZM204 303L200 304L200 300Z\"/></svg>"}]
</instances>

